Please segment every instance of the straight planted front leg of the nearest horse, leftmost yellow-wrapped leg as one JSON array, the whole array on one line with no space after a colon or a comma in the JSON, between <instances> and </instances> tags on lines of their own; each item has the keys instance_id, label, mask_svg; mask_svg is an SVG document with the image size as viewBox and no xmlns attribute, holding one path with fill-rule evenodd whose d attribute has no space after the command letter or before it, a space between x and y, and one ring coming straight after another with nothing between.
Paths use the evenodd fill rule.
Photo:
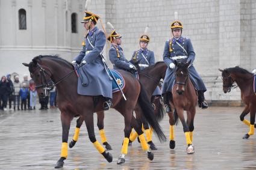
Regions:
<instances>
[{"instance_id":1,"label":"straight planted front leg of the nearest horse, leftmost yellow-wrapped leg","mask_svg":"<svg viewBox=\"0 0 256 170\"><path fill-rule=\"evenodd\" d=\"M69 138L70 122L72 120L72 118L64 112L61 112L60 119L62 124L61 154L60 159L57 161L55 165L55 168L63 167L64 160L67 158L67 139Z\"/></svg>"}]
</instances>

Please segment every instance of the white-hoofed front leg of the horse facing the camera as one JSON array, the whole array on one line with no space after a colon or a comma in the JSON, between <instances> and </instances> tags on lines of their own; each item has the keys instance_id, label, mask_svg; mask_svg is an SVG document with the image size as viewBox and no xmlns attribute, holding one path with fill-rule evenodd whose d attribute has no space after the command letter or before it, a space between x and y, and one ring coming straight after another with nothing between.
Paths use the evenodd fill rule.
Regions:
<instances>
[{"instance_id":1,"label":"white-hoofed front leg of the horse facing the camera","mask_svg":"<svg viewBox=\"0 0 256 170\"><path fill-rule=\"evenodd\" d=\"M181 120L181 123L183 124L183 131L185 133L186 141L187 141L187 153L192 154L194 153L193 145L190 139L190 132L189 132L189 126L187 126L187 123L185 121L184 115L183 115L183 108L176 109L178 117Z\"/></svg>"}]
</instances>

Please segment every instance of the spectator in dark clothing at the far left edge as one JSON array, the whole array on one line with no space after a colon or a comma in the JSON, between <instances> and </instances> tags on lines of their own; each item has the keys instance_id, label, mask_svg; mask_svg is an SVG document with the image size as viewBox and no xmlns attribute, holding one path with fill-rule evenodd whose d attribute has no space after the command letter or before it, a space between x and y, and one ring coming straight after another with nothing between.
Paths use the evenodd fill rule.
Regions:
<instances>
[{"instance_id":1,"label":"spectator in dark clothing at the far left edge","mask_svg":"<svg viewBox=\"0 0 256 170\"><path fill-rule=\"evenodd\" d=\"M7 105L8 94L10 93L10 83L5 76L1 77L0 81L0 110L6 110L4 107ZM2 102L2 105L1 105Z\"/></svg>"}]
</instances>

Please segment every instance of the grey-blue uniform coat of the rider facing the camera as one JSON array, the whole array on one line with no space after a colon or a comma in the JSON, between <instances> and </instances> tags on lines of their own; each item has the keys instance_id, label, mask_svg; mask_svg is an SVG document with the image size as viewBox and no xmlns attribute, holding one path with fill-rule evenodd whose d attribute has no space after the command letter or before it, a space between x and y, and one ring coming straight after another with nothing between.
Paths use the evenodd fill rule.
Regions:
<instances>
[{"instance_id":1,"label":"grey-blue uniform coat of the rider facing the camera","mask_svg":"<svg viewBox=\"0 0 256 170\"><path fill-rule=\"evenodd\" d=\"M170 41L171 41L171 44L170 44ZM181 46L183 46L183 48L186 50L187 53L176 43L176 41L178 41L178 43L180 43ZM170 52L170 48L172 49L171 52ZM206 91L204 82L202 81L201 77L196 72L196 69L193 66L193 61L195 60L195 52L194 52L192 43L189 38L180 37L178 38L178 40L176 40L175 38L172 38L171 40L166 41L164 46L163 59L167 65L167 70L166 70L166 76L164 77L162 94L166 93L167 91L172 92L172 85L173 85L173 82L175 81L175 68L171 69L169 65L170 63L173 62L172 58L175 56L188 56L185 59L178 59L177 61L182 61L182 62L191 61L191 64L190 64L191 66L189 67L190 79L195 85L196 90Z\"/></svg>"}]
</instances>

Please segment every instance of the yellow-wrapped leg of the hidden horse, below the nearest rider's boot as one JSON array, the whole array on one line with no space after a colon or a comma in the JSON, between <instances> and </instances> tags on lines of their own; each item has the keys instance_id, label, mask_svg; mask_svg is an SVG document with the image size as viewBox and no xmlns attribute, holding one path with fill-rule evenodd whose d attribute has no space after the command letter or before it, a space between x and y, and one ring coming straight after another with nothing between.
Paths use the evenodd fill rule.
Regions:
<instances>
[{"instance_id":1,"label":"yellow-wrapped leg of the hidden horse, below the nearest rider's boot","mask_svg":"<svg viewBox=\"0 0 256 170\"><path fill-rule=\"evenodd\" d=\"M107 137L104 131L104 111L97 112L98 121L97 126L99 128L99 135L101 136L101 142L105 145L107 150L112 150L111 145L107 142Z\"/></svg>"}]
</instances>

